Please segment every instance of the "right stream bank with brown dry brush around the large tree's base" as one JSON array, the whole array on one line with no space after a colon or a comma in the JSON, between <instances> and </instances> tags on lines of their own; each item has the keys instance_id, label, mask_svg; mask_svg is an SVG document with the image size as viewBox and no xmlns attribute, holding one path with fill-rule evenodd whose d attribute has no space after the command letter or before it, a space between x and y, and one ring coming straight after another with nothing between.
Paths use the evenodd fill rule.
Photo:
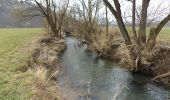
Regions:
<instances>
[{"instance_id":1,"label":"right stream bank with brown dry brush around the large tree's base","mask_svg":"<svg viewBox=\"0 0 170 100\"><path fill-rule=\"evenodd\" d=\"M119 38L119 36L118 36ZM101 40L97 40L101 42ZM106 44L107 45L107 44ZM130 52L127 46L124 44L122 39L113 39L110 41L109 47L103 47L100 43L97 45L101 48L96 48L94 43L88 43L88 49L92 52L97 53L99 58L109 59L113 62L117 62L123 68L132 70L134 63L131 60ZM164 46L163 43L156 45L153 51L145 53L143 52L143 57L146 58L146 65L142 66L140 71L135 73L149 74L153 76L153 80L163 85L170 85L170 48L169 46ZM147 69L145 69L147 68Z\"/></svg>"}]
</instances>

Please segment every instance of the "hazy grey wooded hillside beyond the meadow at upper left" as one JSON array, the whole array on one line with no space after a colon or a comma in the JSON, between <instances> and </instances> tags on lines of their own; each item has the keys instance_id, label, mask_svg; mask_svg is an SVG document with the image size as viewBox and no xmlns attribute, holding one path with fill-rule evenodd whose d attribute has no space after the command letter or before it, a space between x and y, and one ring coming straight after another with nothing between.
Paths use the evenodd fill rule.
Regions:
<instances>
[{"instance_id":1,"label":"hazy grey wooded hillside beyond the meadow at upper left","mask_svg":"<svg viewBox=\"0 0 170 100\"><path fill-rule=\"evenodd\" d=\"M42 27L42 18L21 21L14 15L15 4L18 0L0 0L0 28L7 27Z\"/></svg>"}]
</instances>

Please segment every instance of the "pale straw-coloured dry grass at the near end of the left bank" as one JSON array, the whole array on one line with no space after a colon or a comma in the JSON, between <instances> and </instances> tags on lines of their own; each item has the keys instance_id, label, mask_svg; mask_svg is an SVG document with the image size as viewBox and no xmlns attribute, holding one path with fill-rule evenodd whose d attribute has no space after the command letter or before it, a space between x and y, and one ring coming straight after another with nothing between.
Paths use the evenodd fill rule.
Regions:
<instances>
[{"instance_id":1,"label":"pale straw-coloured dry grass at the near end of the left bank","mask_svg":"<svg viewBox=\"0 0 170 100\"><path fill-rule=\"evenodd\" d=\"M45 67L38 67L32 71L34 81L32 90L34 95L33 100L60 100L61 96L55 81L49 79L48 70Z\"/></svg>"}]
</instances>

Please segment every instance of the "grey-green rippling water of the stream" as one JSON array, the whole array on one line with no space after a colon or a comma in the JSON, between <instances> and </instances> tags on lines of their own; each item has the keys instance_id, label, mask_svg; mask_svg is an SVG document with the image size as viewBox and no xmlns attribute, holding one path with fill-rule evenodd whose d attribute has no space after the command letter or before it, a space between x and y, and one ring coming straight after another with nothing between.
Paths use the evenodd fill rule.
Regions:
<instances>
[{"instance_id":1,"label":"grey-green rippling water of the stream","mask_svg":"<svg viewBox=\"0 0 170 100\"><path fill-rule=\"evenodd\" d=\"M59 83L68 100L170 100L169 88L146 82L151 77L96 58L86 47L78 46L76 38L66 38L66 44Z\"/></svg>"}]
</instances>

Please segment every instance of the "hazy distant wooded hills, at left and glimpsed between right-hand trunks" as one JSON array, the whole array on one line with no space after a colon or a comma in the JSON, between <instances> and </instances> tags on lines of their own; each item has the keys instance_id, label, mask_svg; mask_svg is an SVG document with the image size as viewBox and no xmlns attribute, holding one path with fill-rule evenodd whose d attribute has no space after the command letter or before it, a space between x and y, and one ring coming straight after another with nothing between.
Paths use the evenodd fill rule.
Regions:
<instances>
[{"instance_id":1,"label":"hazy distant wooded hills, at left and glimpsed between right-hand trunks","mask_svg":"<svg viewBox=\"0 0 170 100\"><path fill-rule=\"evenodd\" d=\"M12 27L42 27L43 21L42 17L34 17L30 20L21 21L14 15L15 13L15 5L22 4L19 0L0 0L0 28L12 28ZM148 26L154 27L159 22L154 22L149 24ZM131 23L125 23L126 26L131 26ZM136 23L138 26L139 23ZM105 20L101 21L100 26L105 26ZM117 26L116 22L109 22L110 26ZM165 26L170 27L170 22Z\"/></svg>"}]
</instances>

